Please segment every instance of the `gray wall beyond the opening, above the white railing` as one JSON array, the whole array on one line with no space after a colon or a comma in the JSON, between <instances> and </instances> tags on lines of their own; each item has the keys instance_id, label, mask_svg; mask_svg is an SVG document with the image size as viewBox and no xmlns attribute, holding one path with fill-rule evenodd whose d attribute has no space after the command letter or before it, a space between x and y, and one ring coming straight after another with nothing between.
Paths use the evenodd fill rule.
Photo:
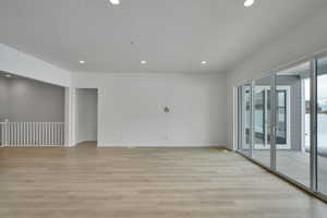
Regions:
<instances>
[{"instance_id":1,"label":"gray wall beyond the opening, above the white railing","mask_svg":"<svg viewBox=\"0 0 327 218\"><path fill-rule=\"evenodd\" d=\"M0 72L0 121L64 122L64 87Z\"/></svg>"}]
</instances>

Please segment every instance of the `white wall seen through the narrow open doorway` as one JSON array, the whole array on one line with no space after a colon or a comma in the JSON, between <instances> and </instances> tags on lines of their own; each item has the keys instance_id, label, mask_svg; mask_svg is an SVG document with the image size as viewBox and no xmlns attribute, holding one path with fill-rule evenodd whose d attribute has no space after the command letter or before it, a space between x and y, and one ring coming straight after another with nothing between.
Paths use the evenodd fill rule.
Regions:
<instances>
[{"instance_id":1,"label":"white wall seen through the narrow open doorway","mask_svg":"<svg viewBox=\"0 0 327 218\"><path fill-rule=\"evenodd\" d=\"M75 95L75 144L97 141L97 89L78 88Z\"/></svg>"}]
</instances>

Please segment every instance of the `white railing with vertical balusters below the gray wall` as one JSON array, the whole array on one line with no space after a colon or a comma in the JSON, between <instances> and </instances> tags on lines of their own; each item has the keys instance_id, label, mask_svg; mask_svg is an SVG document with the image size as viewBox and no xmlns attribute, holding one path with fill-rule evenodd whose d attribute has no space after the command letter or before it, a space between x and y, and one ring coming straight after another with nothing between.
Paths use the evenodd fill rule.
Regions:
<instances>
[{"instance_id":1,"label":"white railing with vertical balusters below the gray wall","mask_svg":"<svg viewBox=\"0 0 327 218\"><path fill-rule=\"evenodd\" d=\"M0 122L0 146L62 146L63 122Z\"/></svg>"}]
</instances>

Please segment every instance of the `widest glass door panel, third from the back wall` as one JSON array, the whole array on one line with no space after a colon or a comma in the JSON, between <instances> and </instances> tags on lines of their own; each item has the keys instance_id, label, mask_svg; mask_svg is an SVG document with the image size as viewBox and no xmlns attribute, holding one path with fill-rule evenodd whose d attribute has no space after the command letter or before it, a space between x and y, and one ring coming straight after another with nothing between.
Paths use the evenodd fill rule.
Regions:
<instances>
[{"instance_id":1,"label":"widest glass door panel, third from the back wall","mask_svg":"<svg viewBox=\"0 0 327 218\"><path fill-rule=\"evenodd\" d=\"M276 168L310 186L310 62L276 75Z\"/></svg>"}]
</instances>

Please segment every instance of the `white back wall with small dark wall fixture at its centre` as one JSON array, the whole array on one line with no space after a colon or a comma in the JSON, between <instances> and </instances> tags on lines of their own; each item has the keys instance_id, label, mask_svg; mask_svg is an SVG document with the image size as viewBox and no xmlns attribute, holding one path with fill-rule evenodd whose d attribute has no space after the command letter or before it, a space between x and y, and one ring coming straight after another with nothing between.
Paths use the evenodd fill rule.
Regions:
<instances>
[{"instance_id":1,"label":"white back wall with small dark wall fixture at its centre","mask_svg":"<svg viewBox=\"0 0 327 218\"><path fill-rule=\"evenodd\" d=\"M225 74L78 72L73 86L98 87L99 146L226 145Z\"/></svg>"}]
</instances>

